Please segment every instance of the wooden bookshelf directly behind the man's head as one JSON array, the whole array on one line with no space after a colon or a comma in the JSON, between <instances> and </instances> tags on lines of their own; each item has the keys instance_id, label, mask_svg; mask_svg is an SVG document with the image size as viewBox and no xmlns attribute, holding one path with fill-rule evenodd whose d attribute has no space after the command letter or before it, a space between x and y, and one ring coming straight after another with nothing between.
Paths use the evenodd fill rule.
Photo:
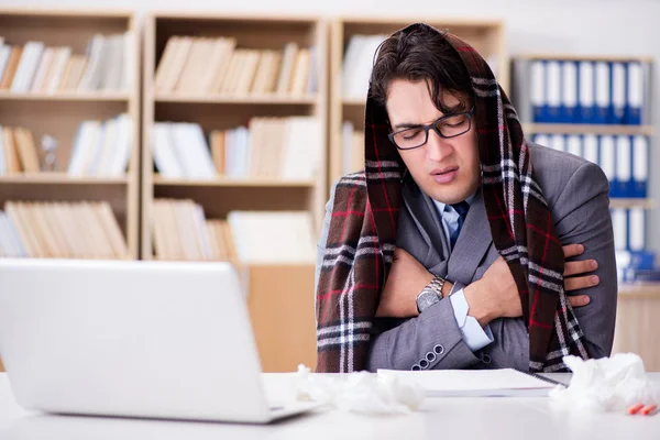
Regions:
<instances>
[{"instance_id":1,"label":"wooden bookshelf directly behind the man's head","mask_svg":"<svg viewBox=\"0 0 660 440\"><path fill-rule=\"evenodd\" d=\"M505 45L504 23L498 20L459 20L442 18L383 18L343 16L331 23L330 44L330 154L329 154L329 185L332 185L344 174L358 170L360 152L355 152L353 165L348 162L343 147L343 123L353 124L353 150L359 147L360 134L364 130L364 106L366 89L360 94L344 94L342 84L343 62L351 38L355 35L391 35L395 31L415 22L424 21L437 29L448 29L473 45L484 58L488 61L495 75L508 92L509 62ZM373 52L373 51L372 51ZM364 56L362 54L362 56ZM370 55L373 57L373 53ZM371 72L371 70L370 70ZM358 144L358 145L356 145ZM355 169L354 169L355 168Z\"/></svg>"}]
</instances>

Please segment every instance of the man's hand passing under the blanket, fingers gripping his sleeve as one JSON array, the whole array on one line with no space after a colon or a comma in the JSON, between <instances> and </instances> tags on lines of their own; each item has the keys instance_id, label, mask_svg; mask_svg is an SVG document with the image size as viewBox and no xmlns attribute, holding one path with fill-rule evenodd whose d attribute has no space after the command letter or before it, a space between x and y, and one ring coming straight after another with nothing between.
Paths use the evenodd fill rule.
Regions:
<instances>
[{"instance_id":1,"label":"man's hand passing under the blanket, fingers gripping his sleeve","mask_svg":"<svg viewBox=\"0 0 660 440\"><path fill-rule=\"evenodd\" d=\"M563 246L564 257L580 255L584 252L582 244ZM595 260L564 263L564 290L578 290L596 286L596 275L582 275L598 267ZM582 276L573 276L582 275ZM573 277L571 277L573 276ZM483 326L495 318L517 318L522 315L520 296L508 265L501 256L488 267L482 279L472 283L463 290L470 305L470 315ZM572 307L585 306L590 301L586 295L570 296Z\"/></svg>"}]
</instances>

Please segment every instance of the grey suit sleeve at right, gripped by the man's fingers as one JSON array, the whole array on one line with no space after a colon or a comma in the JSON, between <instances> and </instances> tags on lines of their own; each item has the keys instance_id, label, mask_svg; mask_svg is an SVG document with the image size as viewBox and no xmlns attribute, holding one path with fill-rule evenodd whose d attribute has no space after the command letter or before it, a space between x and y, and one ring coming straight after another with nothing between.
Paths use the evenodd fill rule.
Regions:
<instances>
[{"instance_id":1,"label":"grey suit sleeve at right, gripped by the man's fingers","mask_svg":"<svg viewBox=\"0 0 660 440\"><path fill-rule=\"evenodd\" d=\"M608 193L603 170L586 163L571 176L552 209L562 244L584 245L584 253L574 260L598 263L595 275L601 283L596 287L568 293L591 299L588 305L573 309L591 358L608 356L614 341L618 287Z\"/></svg>"}]
</instances>

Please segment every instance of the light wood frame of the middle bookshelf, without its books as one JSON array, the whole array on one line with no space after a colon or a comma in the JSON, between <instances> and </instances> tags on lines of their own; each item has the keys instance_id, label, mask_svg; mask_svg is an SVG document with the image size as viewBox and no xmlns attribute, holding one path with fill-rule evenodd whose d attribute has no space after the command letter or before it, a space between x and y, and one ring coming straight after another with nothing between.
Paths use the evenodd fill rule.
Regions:
<instances>
[{"instance_id":1,"label":"light wood frame of the middle bookshelf, without its books","mask_svg":"<svg viewBox=\"0 0 660 440\"><path fill-rule=\"evenodd\" d=\"M252 81L253 90L223 90L216 86L196 89L190 81L186 86L184 79L186 63L195 63L194 50L189 48L190 52L183 67L175 67L172 62L169 64L165 62L167 58L164 55L168 42L176 37L193 38L193 44L205 38L207 41L231 38L234 55L239 51L255 50L261 51L261 54L267 51L278 51L283 54L284 48L290 43L295 43L300 51L316 47L317 55L310 58L311 70L316 74L309 74L316 75L316 89L297 92L256 90L256 77ZM145 18L141 243L143 258L148 260L154 255L151 230L152 202L160 198L191 199L201 205L207 219L224 219L232 210L305 210L312 213L315 224L321 223L327 198L326 47L326 23L315 18L182 14L179 12L156 12ZM279 59L280 68L284 62ZM169 66L170 70L178 69L178 80L170 81L175 86L161 86L163 78L160 78L160 75L169 76L161 72L161 69L165 70L163 65ZM228 67L223 66L227 76ZM219 68L217 77L220 72ZM243 73L245 72L248 70ZM290 75L294 73L292 72ZM211 82L213 81L217 80L213 79ZM254 118L287 117L316 117L319 121L319 133L323 140L320 166L318 173L309 178L283 178L274 175L224 177L218 169L210 178L195 176L173 178L164 176L161 169L157 172L154 169L155 157L152 151L155 140L154 123L199 124L208 145L210 133L213 131L246 127Z\"/></svg>"}]
</instances>

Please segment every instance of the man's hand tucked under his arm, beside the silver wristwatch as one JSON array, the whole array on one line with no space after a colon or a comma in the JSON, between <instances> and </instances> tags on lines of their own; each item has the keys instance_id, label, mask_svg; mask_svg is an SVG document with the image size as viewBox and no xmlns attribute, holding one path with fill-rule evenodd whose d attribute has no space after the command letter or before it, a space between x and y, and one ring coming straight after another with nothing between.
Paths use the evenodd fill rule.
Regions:
<instances>
[{"instance_id":1,"label":"man's hand tucked under his arm, beside the silver wristwatch","mask_svg":"<svg viewBox=\"0 0 660 440\"><path fill-rule=\"evenodd\" d=\"M419 315L417 295L431 279L433 274L408 252L397 248L376 317L408 318Z\"/></svg>"}]
</instances>

